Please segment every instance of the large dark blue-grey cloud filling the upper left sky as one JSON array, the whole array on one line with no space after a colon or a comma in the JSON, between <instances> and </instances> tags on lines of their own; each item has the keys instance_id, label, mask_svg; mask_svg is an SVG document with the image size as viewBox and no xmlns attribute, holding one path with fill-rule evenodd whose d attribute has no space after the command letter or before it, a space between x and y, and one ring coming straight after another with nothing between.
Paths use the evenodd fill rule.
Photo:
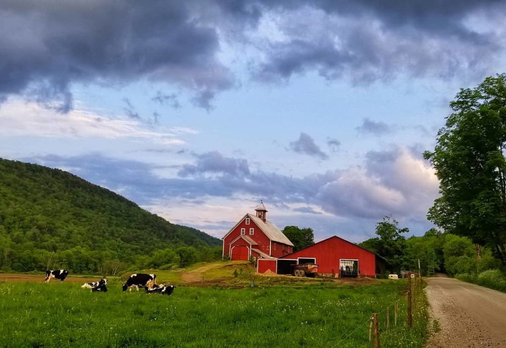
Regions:
<instances>
[{"instance_id":1,"label":"large dark blue-grey cloud filling the upper left sky","mask_svg":"<svg viewBox=\"0 0 506 348\"><path fill-rule=\"evenodd\" d=\"M216 53L216 28L199 23L185 2L0 4L0 95L36 93L71 108L74 82L167 81L202 104L232 79Z\"/></svg>"}]
</instances>

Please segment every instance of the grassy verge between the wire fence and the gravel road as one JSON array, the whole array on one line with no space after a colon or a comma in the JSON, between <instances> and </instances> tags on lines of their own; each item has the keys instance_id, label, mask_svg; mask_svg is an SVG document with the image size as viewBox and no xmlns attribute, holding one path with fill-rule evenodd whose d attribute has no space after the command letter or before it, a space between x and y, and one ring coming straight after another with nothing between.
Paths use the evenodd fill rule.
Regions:
<instances>
[{"instance_id":1,"label":"grassy verge between the wire fence and the gravel road","mask_svg":"<svg viewBox=\"0 0 506 348\"><path fill-rule=\"evenodd\" d=\"M408 275L404 296L392 301L391 305L382 311L372 313L370 318L357 325L354 331L331 348L355 347L356 341L347 342L352 336L362 337L364 347L423 347L429 321L428 302L423 287L424 282L420 274L413 273L413 277ZM406 346L406 342L399 337L411 337L411 345Z\"/></svg>"}]
</instances>

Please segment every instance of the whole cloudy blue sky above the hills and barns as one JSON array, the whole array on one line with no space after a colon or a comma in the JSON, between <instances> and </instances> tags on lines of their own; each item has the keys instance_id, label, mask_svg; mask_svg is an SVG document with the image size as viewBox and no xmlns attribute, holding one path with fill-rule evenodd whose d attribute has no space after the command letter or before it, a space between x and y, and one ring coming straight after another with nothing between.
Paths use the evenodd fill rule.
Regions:
<instances>
[{"instance_id":1,"label":"whole cloudy blue sky above the hills and barns","mask_svg":"<svg viewBox=\"0 0 506 348\"><path fill-rule=\"evenodd\" d=\"M222 237L264 200L317 240L432 227L421 156L506 71L498 1L0 3L0 157Z\"/></svg>"}]
</instances>

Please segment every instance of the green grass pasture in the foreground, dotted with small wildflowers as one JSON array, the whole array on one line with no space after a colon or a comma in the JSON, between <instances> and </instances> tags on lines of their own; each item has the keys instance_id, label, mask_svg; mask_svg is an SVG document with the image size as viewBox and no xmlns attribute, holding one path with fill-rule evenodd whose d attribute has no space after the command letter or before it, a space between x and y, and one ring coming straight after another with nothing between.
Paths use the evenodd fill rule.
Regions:
<instances>
[{"instance_id":1,"label":"green grass pasture in the foreground, dotted with small wildflowers","mask_svg":"<svg viewBox=\"0 0 506 348\"><path fill-rule=\"evenodd\" d=\"M297 289L181 286L164 296L123 293L119 282L110 282L106 293L71 283L2 283L0 345L371 347L368 318L379 312L383 347L421 347L426 311L419 306L421 320L406 328L404 286L402 281ZM393 303L399 298L401 314L394 326Z\"/></svg>"}]
</instances>

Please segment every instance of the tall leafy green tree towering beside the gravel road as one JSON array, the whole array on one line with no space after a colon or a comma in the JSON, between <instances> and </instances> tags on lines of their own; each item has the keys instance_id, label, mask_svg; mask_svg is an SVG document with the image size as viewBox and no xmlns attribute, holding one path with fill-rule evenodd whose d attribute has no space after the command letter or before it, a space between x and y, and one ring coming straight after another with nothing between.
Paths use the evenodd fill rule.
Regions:
<instances>
[{"instance_id":1,"label":"tall leafy green tree towering beside the gravel road","mask_svg":"<svg viewBox=\"0 0 506 348\"><path fill-rule=\"evenodd\" d=\"M450 107L434 152L424 153L441 193L428 218L506 264L506 74L460 89Z\"/></svg>"}]
</instances>

